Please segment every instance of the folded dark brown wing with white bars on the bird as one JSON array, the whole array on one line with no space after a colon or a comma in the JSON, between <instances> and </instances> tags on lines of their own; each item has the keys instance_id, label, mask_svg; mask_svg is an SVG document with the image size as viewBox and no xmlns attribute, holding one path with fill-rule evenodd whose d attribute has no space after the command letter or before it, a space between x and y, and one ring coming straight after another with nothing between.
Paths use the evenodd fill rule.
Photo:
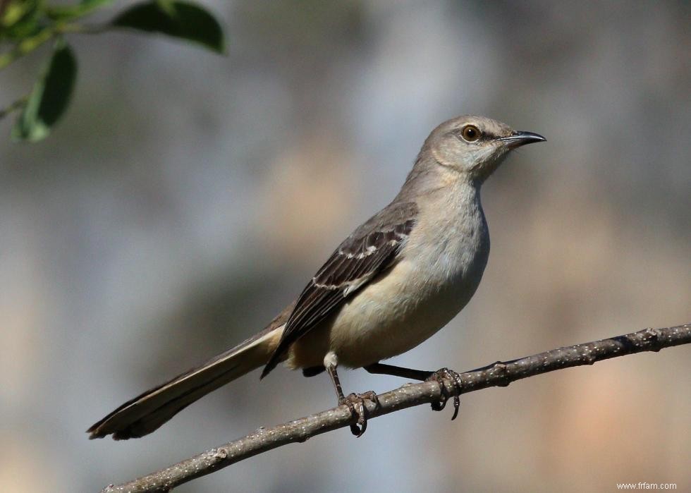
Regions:
<instances>
[{"instance_id":1,"label":"folded dark brown wing with white bars on the bird","mask_svg":"<svg viewBox=\"0 0 691 493\"><path fill-rule=\"evenodd\" d=\"M281 341L264 367L262 378L278 365L292 343L393 265L415 225L416 216L415 202L393 202L338 246L300 294Z\"/></svg>"}]
</instances>

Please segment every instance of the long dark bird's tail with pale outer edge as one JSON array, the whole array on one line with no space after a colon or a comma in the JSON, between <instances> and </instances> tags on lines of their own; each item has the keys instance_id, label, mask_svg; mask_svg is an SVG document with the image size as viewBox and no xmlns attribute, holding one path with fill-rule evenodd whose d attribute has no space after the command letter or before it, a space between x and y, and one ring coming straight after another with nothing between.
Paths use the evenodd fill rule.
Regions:
<instances>
[{"instance_id":1,"label":"long dark bird's tail with pale outer edge","mask_svg":"<svg viewBox=\"0 0 691 493\"><path fill-rule=\"evenodd\" d=\"M127 401L92 425L87 430L89 438L109 434L116 440L143 437L197 399L265 365L283 334L284 324L276 323L279 317L238 346Z\"/></svg>"}]
</instances>

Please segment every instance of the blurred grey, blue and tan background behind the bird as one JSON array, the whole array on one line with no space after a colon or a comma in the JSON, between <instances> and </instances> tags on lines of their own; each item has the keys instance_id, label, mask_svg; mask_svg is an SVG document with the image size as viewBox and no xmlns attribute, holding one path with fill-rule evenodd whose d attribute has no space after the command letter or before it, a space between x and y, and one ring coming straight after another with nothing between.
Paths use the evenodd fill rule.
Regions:
<instances>
[{"instance_id":1,"label":"blurred grey, blue and tan background behind the bird","mask_svg":"<svg viewBox=\"0 0 691 493\"><path fill-rule=\"evenodd\" d=\"M0 489L96 491L333 406L328 378L280 369L144 439L84 432L264 327L458 114L548 141L484 186L492 252L475 298L393 364L467 370L691 321L687 2L202 3L224 20L227 57L73 37L78 86L53 135L13 145L1 122ZM4 71L0 102L42 59ZM455 422L406 410L179 491L691 490L689 347L461 406Z\"/></svg>"}]
</instances>

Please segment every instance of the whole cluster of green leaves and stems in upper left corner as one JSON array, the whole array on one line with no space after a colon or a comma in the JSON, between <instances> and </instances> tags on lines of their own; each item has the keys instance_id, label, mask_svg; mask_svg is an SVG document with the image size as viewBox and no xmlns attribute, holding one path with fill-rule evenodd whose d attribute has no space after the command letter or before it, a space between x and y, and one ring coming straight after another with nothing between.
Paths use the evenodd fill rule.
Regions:
<instances>
[{"instance_id":1,"label":"whole cluster of green leaves and stems in upper left corner","mask_svg":"<svg viewBox=\"0 0 691 493\"><path fill-rule=\"evenodd\" d=\"M46 0L0 0L0 71L47 42L52 49L32 90L0 109L0 118L17 112L13 140L36 142L49 135L69 106L78 63L67 37L111 30L159 33L183 39L217 54L225 51L221 23L190 1L148 0L116 14L109 22L85 25L82 19L112 0L49 4Z\"/></svg>"}]
</instances>

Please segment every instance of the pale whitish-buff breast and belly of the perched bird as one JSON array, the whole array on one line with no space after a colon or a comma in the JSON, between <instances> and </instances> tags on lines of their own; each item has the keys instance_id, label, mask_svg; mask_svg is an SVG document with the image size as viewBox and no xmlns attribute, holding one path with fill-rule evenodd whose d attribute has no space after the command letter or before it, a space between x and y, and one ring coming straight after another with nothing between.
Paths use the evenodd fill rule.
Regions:
<instances>
[{"instance_id":1,"label":"pale whitish-buff breast and belly of the perched bird","mask_svg":"<svg viewBox=\"0 0 691 493\"><path fill-rule=\"evenodd\" d=\"M331 325L329 350L360 367L414 348L444 327L477 289L489 256L479 191L471 185L421 204L400 261L365 286ZM432 207L430 207L432 206Z\"/></svg>"}]
</instances>

